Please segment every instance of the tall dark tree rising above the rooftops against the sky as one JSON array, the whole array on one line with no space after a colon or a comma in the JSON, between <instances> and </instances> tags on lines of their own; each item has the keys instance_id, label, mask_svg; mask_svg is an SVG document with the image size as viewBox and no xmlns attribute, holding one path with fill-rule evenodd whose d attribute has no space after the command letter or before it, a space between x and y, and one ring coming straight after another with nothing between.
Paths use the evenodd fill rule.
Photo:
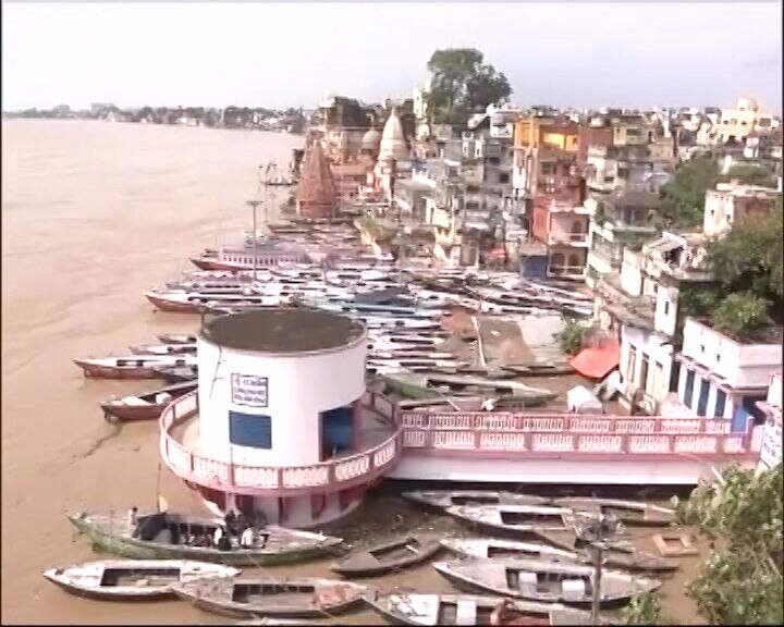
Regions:
<instances>
[{"instance_id":1,"label":"tall dark tree rising above the rooftops against the sky","mask_svg":"<svg viewBox=\"0 0 784 627\"><path fill-rule=\"evenodd\" d=\"M483 63L475 48L436 50L428 61L432 74L428 110L436 124L461 124L478 109L512 94L506 76Z\"/></svg>"}]
</instances>

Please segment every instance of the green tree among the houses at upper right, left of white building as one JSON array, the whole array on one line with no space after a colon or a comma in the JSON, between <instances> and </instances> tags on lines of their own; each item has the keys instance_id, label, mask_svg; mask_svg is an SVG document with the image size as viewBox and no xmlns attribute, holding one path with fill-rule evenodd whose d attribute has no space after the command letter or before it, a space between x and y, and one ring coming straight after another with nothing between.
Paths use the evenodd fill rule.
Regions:
<instances>
[{"instance_id":1,"label":"green tree among the houses at upper right, left of white building","mask_svg":"<svg viewBox=\"0 0 784 627\"><path fill-rule=\"evenodd\" d=\"M662 229L694 229L702 224L705 195L719 180L719 165L709 155L683 164L661 189L658 221Z\"/></svg>"}]
</instances>

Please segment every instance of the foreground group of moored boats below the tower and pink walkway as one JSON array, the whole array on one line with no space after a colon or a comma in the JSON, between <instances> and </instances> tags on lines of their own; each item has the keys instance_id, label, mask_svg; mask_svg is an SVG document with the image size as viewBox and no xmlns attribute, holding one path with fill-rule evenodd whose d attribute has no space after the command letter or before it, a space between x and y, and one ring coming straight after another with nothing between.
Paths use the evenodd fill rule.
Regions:
<instances>
[{"instance_id":1,"label":"foreground group of moored boats below the tower and pink walkway","mask_svg":"<svg viewBox=\"0 0 784 627\"><path fill-rule=\"evenodd\" d=\"M250 545L241 545L234 538L219 549L191 541L225 528L220 519L168 512L135 519L83 513L69 519L94 546L123 558L52 568L45 576L82 597L179 597L207 612L269 625L284 624L278 619L328 618L364 604L404 625L520 624L518 619L588 625L595 566L581 544L576 517L603 514L628 526L650 527L665 527L675 520L671 509L632 501L446 490L404 496L493 536L412 533L348 551L340 538L266 525L254 530ZM354 581L422 565L441 552L453 558L433 562L434 569L455 588L470 593L382 595L372 586ZM275 577L270 571L257 576L240 570L329 555L339 557L331 569L342 579ZM637 551L627 541L608 544L603 566L598 590L602 607L615 607L656 590L658 577L678 567L677 562ZM493 613L495 623L490 619ZM612 623L607 616L601 619Z\"/></svg>"}]
</instances>

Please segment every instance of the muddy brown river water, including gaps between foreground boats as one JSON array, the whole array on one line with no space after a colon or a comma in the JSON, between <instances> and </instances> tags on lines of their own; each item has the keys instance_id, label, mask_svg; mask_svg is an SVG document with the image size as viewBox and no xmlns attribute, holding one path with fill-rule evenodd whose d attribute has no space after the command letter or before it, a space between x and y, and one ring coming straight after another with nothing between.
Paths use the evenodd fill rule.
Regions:
<instances>
[{"instance_id":1,"label":"muddy brown river water, including gaps between foreground boats","mask_svg":"<svg viewBox=\"0 0 784 627\"><path fill-rule=\"evenodd\" d=\"M52 566L98 558L64 514L152 507L204 512L160 469L155 422L117 429L98 403L157 382L85 380L71 359L123 354L163 331L193 331L188 315L155 312L143 293L192 269L204 247L250 226L256 170L285 165L302 139L284 134L102 122L2 123L2 622L220 624L179 601L108 603L63 593ZM273 207L286 192L275 190ZM370 494L331 531L355 545L411 530L461 532L451 519ZM650 532L645 532L644 536ZM645 548L647 539L641 540ZM667 613L694 619L681 593L696 560L664 585ZM330 560L265 569L329 576ZM450 592L429 565L371 579L382 592ZM328 619L383 624L369 612Z\"/></svg>"}]
</instances>

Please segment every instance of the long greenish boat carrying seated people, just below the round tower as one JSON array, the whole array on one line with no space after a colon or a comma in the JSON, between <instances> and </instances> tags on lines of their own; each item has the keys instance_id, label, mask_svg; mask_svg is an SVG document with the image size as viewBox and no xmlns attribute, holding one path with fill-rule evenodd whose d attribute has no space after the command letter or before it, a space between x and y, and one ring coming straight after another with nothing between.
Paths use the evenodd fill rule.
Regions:
<instances>
[{"instance_id":1,"label":"long greenish boat carrying seated people, just below the round tower","mask_svg":"<svg viewBox=\"0 0 784 627\"><path fill-rule=\"evenodd\" d=\"M252 549L233 546L220 551L183 543L187 533L211 537L222 525L215 518L160 512L139 516L132 526L125 516L82 513L70 515L69 520L94 544L134 560L198 560L231 566L287 564L334 553L343 542L340 538L269 525L257 530L257 536L268 536L266 542L257 540Z\"/></svg>"}]
</instances>

